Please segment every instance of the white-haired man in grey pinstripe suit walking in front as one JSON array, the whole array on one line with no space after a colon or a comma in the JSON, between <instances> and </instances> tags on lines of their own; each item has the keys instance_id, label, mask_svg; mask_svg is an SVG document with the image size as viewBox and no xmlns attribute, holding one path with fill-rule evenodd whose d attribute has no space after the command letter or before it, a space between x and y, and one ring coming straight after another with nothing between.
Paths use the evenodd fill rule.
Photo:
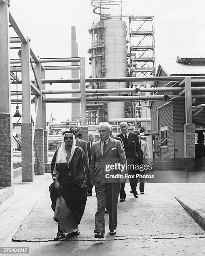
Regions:
<instances>
[{"instance_id":1,"label":"white-haired man in grey pinstripe suit walking in front","mask_svg":"<svg viewBox=\"0 0 205 256\"><path fill-rule=\"evenodd\" d=\"M111 127L101 123L99 128L100 140L92 148L90 165L90 182L95 183L97 197L97 212L95 213L95 238L103 238L105 233L105 205L108 200L110 235L116 234L117 227L117 201L120 192L120 174L126 173L125 169L111 168L111 165L126 164L125 151L122 143L110 138ZM110 167L109 167L110 166ZM110 175L117 175L112 178Z\"/></svg>"}]
</instances>

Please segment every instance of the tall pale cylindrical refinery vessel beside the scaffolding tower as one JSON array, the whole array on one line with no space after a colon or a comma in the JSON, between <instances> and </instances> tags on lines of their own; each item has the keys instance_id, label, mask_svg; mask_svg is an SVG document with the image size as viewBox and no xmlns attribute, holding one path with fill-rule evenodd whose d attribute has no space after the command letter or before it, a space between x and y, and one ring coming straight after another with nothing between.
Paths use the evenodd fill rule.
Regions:
<instances>
[{"instance_id":1,"label":"tall pale cylindrical refinery vessel beside the scaffolding tower","mask_svg":"<svg viewBox=\"0 0 205 256\"><path fill-rule=\"evenodd\" d=\"M125 22L108 19L104 20L104 27L105 77L127 77ZM106 88L126 88L126 82L106 82ZM108 121L111 118L125 118L125 102L109 102L107 104Z\"/></svg>"}]
</instances>

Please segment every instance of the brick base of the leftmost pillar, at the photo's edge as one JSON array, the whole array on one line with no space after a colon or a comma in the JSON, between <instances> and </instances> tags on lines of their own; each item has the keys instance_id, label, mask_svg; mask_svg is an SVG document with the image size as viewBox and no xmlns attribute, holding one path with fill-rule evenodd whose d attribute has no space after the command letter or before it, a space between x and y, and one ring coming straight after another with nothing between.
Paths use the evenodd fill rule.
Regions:
<instances>
[{"instance_id":1,"label":"brick base of the leftmost pillar, at the photo's edge","mask_svg":"<svg viewBox=\"0 0 205 256\"><path fill-rule=\"evenodd\" d=\"M0 114L0 187L13 187L13 127L10 113Z\"/></svg>"}]
</instances>

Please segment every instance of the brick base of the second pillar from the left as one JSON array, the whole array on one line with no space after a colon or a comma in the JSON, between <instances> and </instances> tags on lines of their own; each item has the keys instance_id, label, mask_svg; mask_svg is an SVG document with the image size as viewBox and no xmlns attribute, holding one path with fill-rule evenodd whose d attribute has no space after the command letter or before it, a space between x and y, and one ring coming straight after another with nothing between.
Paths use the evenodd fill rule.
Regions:
<instances>
[{"instance_id":1,"label":"brick base of the second pillar from the left","mask_svg":"<svg viewBox=\"0 0 205 256\"><path fill-rule=\"evenodd\" d=\"M22 182L33 182L34 177L34 157L33 157L33 124L21 124L21 159Z\"/></svg>"}]
</instances>

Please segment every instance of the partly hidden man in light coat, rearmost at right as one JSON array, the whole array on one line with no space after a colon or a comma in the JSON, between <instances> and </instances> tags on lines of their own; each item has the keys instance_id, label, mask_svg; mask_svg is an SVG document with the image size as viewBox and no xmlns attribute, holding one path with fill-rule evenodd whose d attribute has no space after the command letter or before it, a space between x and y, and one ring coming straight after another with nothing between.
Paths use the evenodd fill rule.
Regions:
<instances>
[{"instance_id":1,"label":"partly hidden man in light coat, rearmost at right","mask_svg":"<svg viewBox=\"0 0 205 256\"><path fill-rule=\"evenodd\" d=\"M140 154L139 154L139 159L140 159L140 164L150 164L150 148L147 143L147 141L143 141L141 139L141 133L140 131L136 131L136 134L138 134L139 140L140 140ZM145 172L141 173L142 175L145 174ZM140 194L144 194L145 191L145 179L141 178L140 179Z\"/></svg>"}]
</instances>

